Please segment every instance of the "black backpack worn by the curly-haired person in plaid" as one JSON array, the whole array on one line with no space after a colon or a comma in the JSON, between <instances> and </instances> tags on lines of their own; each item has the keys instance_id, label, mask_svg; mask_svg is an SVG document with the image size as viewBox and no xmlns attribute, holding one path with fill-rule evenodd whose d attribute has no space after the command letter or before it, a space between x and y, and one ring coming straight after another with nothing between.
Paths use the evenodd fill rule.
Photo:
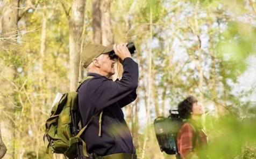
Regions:
<instances>
[{"instance_id":1,"label":"black backpack worn by the curly-haired person in plaid","mask_svg":"<svg viewBox=\"0 0 256 159\"><path fill-rule=\"evenodd\" d=\"M169 155L178 155L177 134L183 124L177 110L170 110L170 115L166 117L157 117L154 120L155 134L161 152Z\"/></svg>"}]
</instances>

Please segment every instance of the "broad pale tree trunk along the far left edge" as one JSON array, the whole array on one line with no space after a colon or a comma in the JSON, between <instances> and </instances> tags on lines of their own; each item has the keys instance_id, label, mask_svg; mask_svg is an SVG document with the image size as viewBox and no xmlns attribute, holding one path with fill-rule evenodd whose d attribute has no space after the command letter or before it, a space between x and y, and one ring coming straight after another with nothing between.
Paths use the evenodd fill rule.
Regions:
<instances>
[{"instance_id":1,"label":"broad pale tree trunk along the far left edge","mask_svg":"<svg viewBox=\"0 0 256 159\"><path fill-rule=\"evenodd\" d=\"M18 0L4 0L3 4L1 28L2 37L5 38L5 40L0 41L0 51L3 51L3 53L8 51L11 54L15 54L15 52L11 50L16 47L12 44L17 44ZM13 98L15 87L12 84L15 79L15 67L13 64L6 64L2 59L0 60L0 67L0 70L3 71L3 78L0 79L1 89L3 90L0 102L2 105L5 105L3 110L5 113L2 114L4 115L2 133L3 140L8 141L5 142L7 143L6 147L8 149L5 156L15 158L15 99Z\"/></svg>"}]
</instances>

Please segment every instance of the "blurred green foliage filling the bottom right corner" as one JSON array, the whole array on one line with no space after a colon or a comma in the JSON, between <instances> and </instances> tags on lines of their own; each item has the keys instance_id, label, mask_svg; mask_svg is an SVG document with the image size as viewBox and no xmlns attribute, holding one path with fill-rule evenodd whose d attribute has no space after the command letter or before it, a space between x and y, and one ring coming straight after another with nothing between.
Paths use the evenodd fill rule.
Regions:
<instances>
[{"instance_id":1,"label":"blurred green foliage filling the bottom right corner","mask_svg":"<svg viewBox=\"0 0 256 159\"><path fill-rule=\"evenodd\" d=\"M241 119L234 115L207 117L209 146L201 153L209 158L255 158L256 118ZM253 157L254 156L254 157Z\"/></svg>"}]
</instances>

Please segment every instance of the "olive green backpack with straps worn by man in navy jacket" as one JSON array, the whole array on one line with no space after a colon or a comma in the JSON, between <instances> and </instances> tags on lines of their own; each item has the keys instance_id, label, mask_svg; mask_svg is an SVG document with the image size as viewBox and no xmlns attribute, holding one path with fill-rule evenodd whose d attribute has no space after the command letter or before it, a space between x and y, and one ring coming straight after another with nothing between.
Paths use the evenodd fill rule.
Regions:
<instances>
[{"instance_id":1,"label":"olive green backpack with straps worn by man in navy jacket","mask_svg":"<svg viewBox=\"0 0 256 159\"><path fill-rule=\"evenodd\" d=\"M92 77L83 79L81 84ZM77 90L79 89L77 88ZM102 111L97 112L86 126L78 132L79 110L78 110L78 94L77 92L63 93L59 102L56 102L51 110L49 118L45 123L45 139L48 140L46 152L64 154L68 158L81 158L80 146L84 156L88 156L86 143L80 139L80 135L86 130L88 125L99 115L99 136L101 136L101 118ZM78 133L77 133L78 132ZM82 143L82 144L80 144Z\"/></svg>"}]
</instances>

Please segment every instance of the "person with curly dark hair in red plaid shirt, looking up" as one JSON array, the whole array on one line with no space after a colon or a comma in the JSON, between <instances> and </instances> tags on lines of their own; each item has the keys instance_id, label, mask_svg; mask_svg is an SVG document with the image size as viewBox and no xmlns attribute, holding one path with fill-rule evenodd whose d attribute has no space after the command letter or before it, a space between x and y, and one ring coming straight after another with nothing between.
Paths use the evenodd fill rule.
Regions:
<instances>
[{"instance_id":1,"label":"person with curly dark hair in red plaid shirt, looking up","mask_svg":"<svg viewBox=\"0 0 256 159\"><path fill-rule=\"evenodd\" d=\"M194 96L188 96L178 105L179 115L186 122L177 135L177 147L182 159L207 158L202 148L207 146L207 135L201 123L203 109Z\"/></svg>"}]
</instances>

